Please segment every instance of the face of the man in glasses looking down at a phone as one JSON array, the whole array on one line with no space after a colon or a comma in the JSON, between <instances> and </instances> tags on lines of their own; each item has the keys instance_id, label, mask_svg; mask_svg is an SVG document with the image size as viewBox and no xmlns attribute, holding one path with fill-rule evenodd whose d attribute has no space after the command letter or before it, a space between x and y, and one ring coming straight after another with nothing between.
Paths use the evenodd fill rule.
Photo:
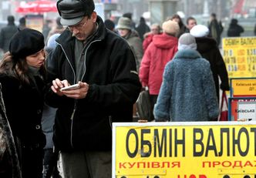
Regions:
<instances>
[{"instance_id":1,"label":"face of the man in glasses looking down at a phone","mask_svg":"<svg viewBox=\"0 0 256 178\"><path fill-rule=\"evenodd\" d=\"M70 32L72 32L72 36L75 36L79 41L86 40L93 33L96 18L96 12L93 12L90 17L84 17L78 24L68 26Z\"/></svg>"}]
</instances>

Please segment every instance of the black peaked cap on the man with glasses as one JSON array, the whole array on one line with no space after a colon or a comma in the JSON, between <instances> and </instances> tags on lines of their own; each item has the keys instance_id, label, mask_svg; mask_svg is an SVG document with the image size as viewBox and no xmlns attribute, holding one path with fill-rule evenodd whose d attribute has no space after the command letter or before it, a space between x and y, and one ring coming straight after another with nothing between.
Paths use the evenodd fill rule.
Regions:
<instances>
[{"instance_id":1,"label":"black peaked cap on the man with glasses","mask_svg":"<svg viewBox=\"0 0 256 178\"><path fill-rule=\"evenodd\" d=\"M93 0L59 0L57 8L62 25L76 25L93 13L95 5Z\"/></svg>"}]
</instances>

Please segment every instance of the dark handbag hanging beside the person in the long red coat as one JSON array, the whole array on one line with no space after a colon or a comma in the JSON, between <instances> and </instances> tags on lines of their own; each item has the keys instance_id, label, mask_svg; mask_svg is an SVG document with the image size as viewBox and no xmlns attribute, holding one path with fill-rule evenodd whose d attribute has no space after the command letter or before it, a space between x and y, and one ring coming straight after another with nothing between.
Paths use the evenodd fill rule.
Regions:
<instances>
[{"instance_id":1,"label":"dark handbag hanging beside the person in the long red coat","mask_svg":"<svg viewBox=\"0 0 256 178\"><path fill-rule=\"evenodd\" d=\"M153 118L153 110L150 104L149 90L143 90L136 101L136 109L140 119L151 121Z\"/></svg>"}]
</instances>

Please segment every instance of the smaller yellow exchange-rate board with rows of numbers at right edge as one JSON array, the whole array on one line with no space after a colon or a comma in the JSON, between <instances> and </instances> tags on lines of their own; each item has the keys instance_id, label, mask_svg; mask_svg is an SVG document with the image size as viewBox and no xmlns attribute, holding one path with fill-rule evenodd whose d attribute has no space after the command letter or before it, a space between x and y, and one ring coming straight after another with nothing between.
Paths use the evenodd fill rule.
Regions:
<instances>
[{"instance_id":1,"label":"smaller yellow exchange-rate board with rows of numbers at right edge","mask_svg":"<svg viewBox=\"0 0 256 178\"><path fill-rule=\"evenodd\" d=\"M256 76L256 37L222 39L223 57L228 76Z\"/></svg>"}]
</instances>

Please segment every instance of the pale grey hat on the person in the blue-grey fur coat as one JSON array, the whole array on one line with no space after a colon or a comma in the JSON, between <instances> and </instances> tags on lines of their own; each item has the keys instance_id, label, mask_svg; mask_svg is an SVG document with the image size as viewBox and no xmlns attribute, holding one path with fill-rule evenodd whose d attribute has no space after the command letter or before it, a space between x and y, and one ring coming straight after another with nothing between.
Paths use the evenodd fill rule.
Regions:
<instances>
[{"instance_id":1,"label":"pale grey hat on the person in the blue-grey fur coat","mask_svg":"<svg viewBox=\"0 0 256 178\"><path fill-rule=\"evenodd\" d=\"M180 36L178 50L197 49L196 39L190 33L184 33Z\"/></svg>"}]
</instances>

